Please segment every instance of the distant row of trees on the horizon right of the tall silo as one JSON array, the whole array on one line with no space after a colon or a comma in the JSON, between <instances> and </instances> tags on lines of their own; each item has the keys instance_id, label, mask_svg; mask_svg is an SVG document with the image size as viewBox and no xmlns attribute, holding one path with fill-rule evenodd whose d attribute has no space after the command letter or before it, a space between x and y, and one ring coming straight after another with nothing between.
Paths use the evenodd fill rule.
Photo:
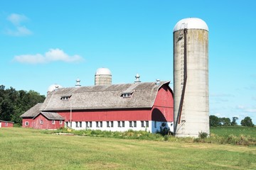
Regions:
<instances>
[{"instance_id":1,"label":"distant row of trees on the horizon right of the tall silo","mask_svg":"<svg viewBox=\"0 0 256 170\"><path fill-rule=\"evenodd\" d=\"M230 118L218 118L215 115L210 115L210 126L216 127L216 126L234 126L238 125L237 123L238 117L233 117L232 121ZM245 117L243 120L241 120L242 126L249 126L253 127L254 124L252 123L252 119L250 117Z\"/></svg>"}]
</instances>

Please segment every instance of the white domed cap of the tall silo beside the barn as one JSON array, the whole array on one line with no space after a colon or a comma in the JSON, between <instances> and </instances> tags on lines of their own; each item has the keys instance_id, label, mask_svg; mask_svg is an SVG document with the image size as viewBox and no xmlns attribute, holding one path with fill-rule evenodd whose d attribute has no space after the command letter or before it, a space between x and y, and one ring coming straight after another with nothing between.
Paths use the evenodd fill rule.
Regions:
<instances>
[{"instance_id":1,"label":"white domed cap of the tall silo beside the barn","mask_svg":"<svg viewBox=\"0 0 256 170\"><path fill-rule=\"evenodd\" d=\"M182 30L184 28L187 29L201 29L207 30L208 26L205 21L201 20L200 18L184 18L181 21L178 21L174 26L174 32L177 30Z\"/></svg>"}]
</instances>

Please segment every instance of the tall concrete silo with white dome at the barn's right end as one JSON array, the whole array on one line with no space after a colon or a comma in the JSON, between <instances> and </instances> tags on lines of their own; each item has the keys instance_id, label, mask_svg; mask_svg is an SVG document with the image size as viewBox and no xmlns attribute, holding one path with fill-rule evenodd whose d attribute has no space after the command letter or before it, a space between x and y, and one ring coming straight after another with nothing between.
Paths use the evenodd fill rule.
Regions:
<instances>
[{"instance_id":1,"label":"tall concrete silo with white dome at the barn's right end","mask_svg":"<svg viewBox=\"0 0 256 170\"><path fill-rule=\"evenodd\" d=\"M185 18L174 27L174 135L210 134L208 26Z\"/></svg>"}]
</instances>

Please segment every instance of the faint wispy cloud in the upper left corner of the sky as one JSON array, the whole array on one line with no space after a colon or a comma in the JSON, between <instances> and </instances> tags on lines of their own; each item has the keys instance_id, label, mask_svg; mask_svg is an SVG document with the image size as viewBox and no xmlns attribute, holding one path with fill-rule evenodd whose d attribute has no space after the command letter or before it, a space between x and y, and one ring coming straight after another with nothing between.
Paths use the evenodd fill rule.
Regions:
<instances>
[{"instance_id":1,"label":"faint wispy cloud in the upper left corner of the sky","mask_svg":"<svg viewBox=\"0 0 256 170\"><path fill-rule=\"evenodd\" d=\"M6 34L11 36L26 36L32 34L31 30L26 28L26 26L21 25L21 23L29 21L26 16L19 15L17 13L11 13L11 15L9 15L6 19L10 21L14 26L12 29L7 28Z\"/></svg>"}]
</instances>

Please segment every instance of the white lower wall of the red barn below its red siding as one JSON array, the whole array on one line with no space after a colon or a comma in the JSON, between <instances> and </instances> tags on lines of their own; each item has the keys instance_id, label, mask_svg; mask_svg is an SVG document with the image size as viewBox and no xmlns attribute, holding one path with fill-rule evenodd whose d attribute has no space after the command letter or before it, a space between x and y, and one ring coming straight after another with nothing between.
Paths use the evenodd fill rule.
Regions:
<instances>
[{"instance_id":1,"label":"white lower wall of the red barn below its red siding","mask_svg":"<svg viewBox=\"0 0 256 170\"><path fill-rule=\"evenodd\" d=\"M124 127L122 125L123 121L119 121L121 127L118 127L118 121L112 121L112 122L113 122L113 127L111 127L111 121L109 121L110 127L107 127L107 121L102 121L102 127L100 127L100 121L98 121L98 127L97 127L96 121L92 121L92 127L90 127L90 122L87 122L89 127L86 127L86 122L81 122L81 127L80 127L80 122L78 123L72 122L71 128L73 128L74 130L90 129L90 130L108 130L108 131L119 131L119 132L124 132L127 130L146 130L148 132L156 133L161 131L161 127L164 128L163 123L165 123L165 127L169 128L171 132L174 132L174 123L172 122L157 122L153 120L149 120L149 121L144 120L142 123L142 121L137 120L136 127L134 125L134 121L132 121L132 127L130 126L130 121L124 121ZM65 122L65 127L70 127L70 122Z\"/></svg>"}]
</instances>

